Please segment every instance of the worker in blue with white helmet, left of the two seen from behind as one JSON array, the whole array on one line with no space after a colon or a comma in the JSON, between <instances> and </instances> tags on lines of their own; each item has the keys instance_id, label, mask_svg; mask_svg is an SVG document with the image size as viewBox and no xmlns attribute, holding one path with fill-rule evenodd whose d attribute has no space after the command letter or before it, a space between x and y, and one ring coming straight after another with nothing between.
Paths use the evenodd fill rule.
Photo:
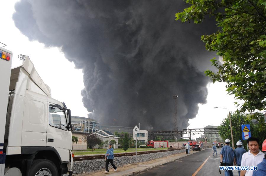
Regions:
<instances>
[{"instance_id":1,"label":"worker in blue with white helmet, left of the two seen from behind","mask_svg":"<svg viewBox=\"0 0 266 176\"><path fill-rule=\"evenodd\" d=\"M229 146L230 140L226 139L225 140L225 146L222 148L220 154L221 154L221 162L225 166L233 166L233 163L236 163L236 158L235 158L235 152L232 147ZM225 176L233 176L233 171L231 170L226 170Z\"/></svg>"}]
</instances>

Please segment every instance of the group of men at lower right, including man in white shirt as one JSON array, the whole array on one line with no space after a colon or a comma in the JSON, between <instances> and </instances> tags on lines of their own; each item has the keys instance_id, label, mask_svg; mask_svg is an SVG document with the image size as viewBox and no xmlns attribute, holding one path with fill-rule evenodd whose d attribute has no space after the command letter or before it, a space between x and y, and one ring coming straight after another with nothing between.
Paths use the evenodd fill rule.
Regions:
<instances>
[{"instance_id":1,"label":"group of men at lower right, including man in white shirt","mask_svg":"<svg viewBox=\"0 0 266 176\"><path fill-rule=\"evenodd\" d=\"M258 175L266 175L266 139L262 144L262 151L265 151L265 155L263 152L259 150L259 140L255 137L250 137L247 139L249 151L243 147L243 143L238 141L236 143L237 148L233 150L230 147L230 140L225 140L225 146L221 149L221 165L223 166L257 166L257 171L253 170L241 170L238 171L239 176L258 176ZM214 152L216 152L217 156L217 149L216 146L213 146L213 156ZM233 176L233 171L228 170L225 171L226 176Z\"/></svg>"}]
</instances>

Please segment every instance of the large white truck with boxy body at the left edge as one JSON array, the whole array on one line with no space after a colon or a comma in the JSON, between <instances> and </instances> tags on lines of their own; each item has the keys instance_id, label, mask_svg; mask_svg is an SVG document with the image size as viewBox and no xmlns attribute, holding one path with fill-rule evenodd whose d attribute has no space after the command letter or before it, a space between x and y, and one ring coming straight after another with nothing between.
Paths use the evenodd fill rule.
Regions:
<instances>
[{"instance_id":1,"label":"large white truck with boxy body at the left edge","mask_svg":"<svg viewBox=\"0 0 266 176\"><path fill-rule=\"evenodd\" d=\"M0 176L71 176L70 109L51 97L29 57L17 68L11 62L0 47Z\"/></svg>"}]
</instances>

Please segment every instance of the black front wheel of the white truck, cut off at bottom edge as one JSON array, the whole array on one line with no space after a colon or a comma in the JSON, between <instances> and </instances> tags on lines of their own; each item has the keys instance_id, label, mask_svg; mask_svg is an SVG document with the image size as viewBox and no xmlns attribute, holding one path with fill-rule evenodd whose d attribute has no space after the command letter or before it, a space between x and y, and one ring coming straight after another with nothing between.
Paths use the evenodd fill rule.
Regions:
<instances>
[{"instance_id":1,"label":"black front wheel of the white truck, cut off at bottom edge","mask_svg":"<svg viewBox=\"0 0 266 176\"><path fill-rule=\"evenodd\" d=\"M58 176L58 170L50 160L36 159L31 165L29 176Z\"/></svg>"}]
</instances>

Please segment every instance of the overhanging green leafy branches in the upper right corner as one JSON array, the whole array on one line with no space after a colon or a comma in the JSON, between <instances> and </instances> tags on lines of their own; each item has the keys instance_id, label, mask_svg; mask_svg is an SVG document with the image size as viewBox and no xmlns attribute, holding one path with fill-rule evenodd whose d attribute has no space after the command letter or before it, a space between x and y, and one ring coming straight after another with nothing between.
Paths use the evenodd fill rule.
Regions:
<instances>
[{"instance_id":1,"label":"overhanging green leafy branches in the upper right corner","mask_svg":"<svg viewBox=\"0 0 266 176\"><path fill-rule=\"evenodd\" d=\"M186 0L191 4L176 13L176 20L200 23L214 16L219 30L201 40L208 51L223 58L211 62L217 73L205 71L213 82L227 83L227 91L244 100L241 111L266 108L266 1L265 0ZM237 104L237 103L236 103ZM258 119L258 113L254 118Z\"/></svg>"}]
</instances>

